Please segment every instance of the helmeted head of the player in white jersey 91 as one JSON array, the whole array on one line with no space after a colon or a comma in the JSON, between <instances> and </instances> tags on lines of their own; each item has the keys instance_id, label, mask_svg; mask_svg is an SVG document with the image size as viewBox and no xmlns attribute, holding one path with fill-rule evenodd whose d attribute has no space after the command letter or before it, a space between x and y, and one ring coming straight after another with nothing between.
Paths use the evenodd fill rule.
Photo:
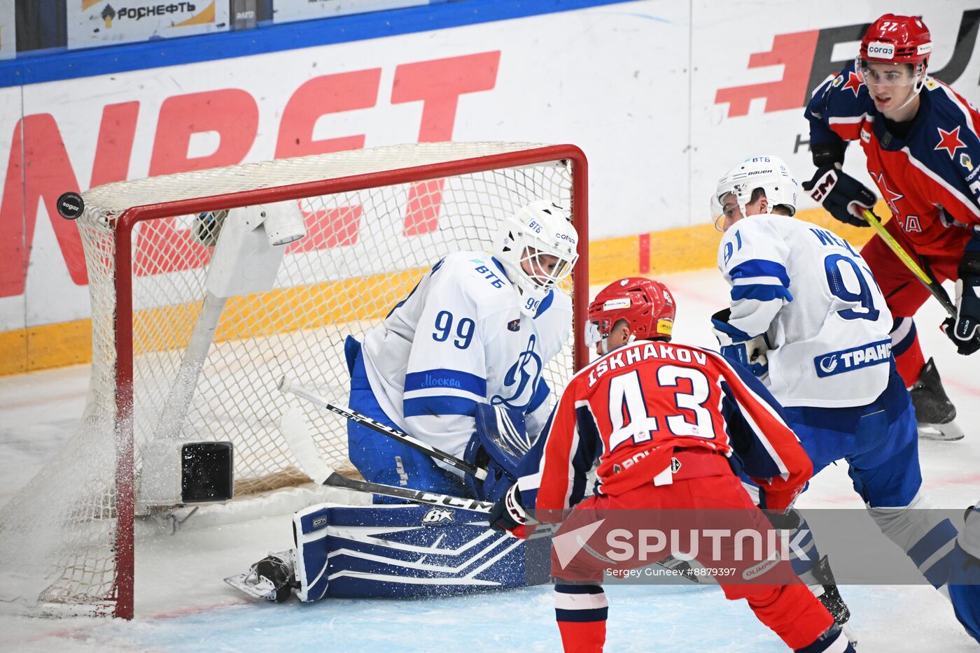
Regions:
<instances>
[{"instance_id":1,"label":"helmeted head of the player in white jersey 91","mask_svg":"<svg viewBox=\"0 0 980 653\"><path fill-rule=\"evenodd\" d=\"M796 213L800 185L782 159L749 157L728 170L711 194L711 220L719 231L748 215Z\"/></svg>"}]
</instances>

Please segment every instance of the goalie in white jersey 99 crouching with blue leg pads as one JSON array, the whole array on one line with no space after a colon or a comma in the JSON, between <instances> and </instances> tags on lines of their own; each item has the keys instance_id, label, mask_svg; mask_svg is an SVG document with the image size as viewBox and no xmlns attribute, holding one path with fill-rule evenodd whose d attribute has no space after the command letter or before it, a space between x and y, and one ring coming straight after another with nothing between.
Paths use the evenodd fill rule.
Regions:
<instances>
[{"instance_id":1,"label":"goalie in white jersey 99 crouching with blue leg pads","mask_svg":"<svg viewBox=\"0 0 980 653\"><path fill-rule=\"evenodd\" d=\"M273 601L294 590L315 601L546 582L550 541L494 532L486 510L515 483L517 462L551 410L542 371L570 334L571 302L559 284L577 240L563 208L531 202L501 220L492 254L440 259L364 342L348 337L348 453L365 482L310 462L315 447L306 457L324 470L316 481L369 489L373 504L297 512L294 549L225 581ZM302 419L284 420L283 430L302 431ZM303 457L297 434L284 435ZM414 495L442 497L442 505L402 498Z\"/></svg>"}]
</instances>

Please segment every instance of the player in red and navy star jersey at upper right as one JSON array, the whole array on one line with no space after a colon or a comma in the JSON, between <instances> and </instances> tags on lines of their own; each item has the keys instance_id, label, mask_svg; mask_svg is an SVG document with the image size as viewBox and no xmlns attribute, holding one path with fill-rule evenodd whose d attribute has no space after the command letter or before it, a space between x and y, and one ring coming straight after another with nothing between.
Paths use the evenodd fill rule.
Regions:
<instances>
[{"instance_id":1,"label":"player in red and navy star jersey at upper right","mask_svg":"<svg viewBox=\"0 0 980 653\"><path fill-rule=\"evenodd\" d=\"M828 79L806 110L817 171L804 190L837 219L868 226L874 194L845 172L859 140L867 170L894 219L886 228L939 282L956 280L956 317L943 330L956 350L980 349L980 113L926 75L929 30L914 16L886 14L864 33L855 64ZM928 291L878 236L861 250L895 322L892 352L912 396L919 436L959 440L956 407L932 358L924 362L912 315Z\"/></svg>"}]
</instances>

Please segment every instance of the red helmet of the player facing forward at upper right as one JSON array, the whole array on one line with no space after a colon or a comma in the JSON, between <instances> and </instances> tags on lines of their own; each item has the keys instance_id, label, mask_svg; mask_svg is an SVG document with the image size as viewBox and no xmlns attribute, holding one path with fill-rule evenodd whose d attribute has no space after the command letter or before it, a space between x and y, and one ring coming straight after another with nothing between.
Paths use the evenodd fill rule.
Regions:
<instances>
[{"instance_id":1,"label":"red helmet of the player facing forward at upper right","mask_svg":"<svg viewBox=\"0 0 980 653\"><path fill-rule=\"evenodd\" d=\"M876 85L912 85L907 100L898 108L902 109L922 90L931 53L932 37L925 23L915 16L885 14L871 23L864 32L855 60L855 71L865 85L869 75ZM905 70L901 70L901 74L887 69L869 73L869 64L885 64L903 69L907 65L911 66L912 73L910 77Z\"/></svg>"}]
</instances>

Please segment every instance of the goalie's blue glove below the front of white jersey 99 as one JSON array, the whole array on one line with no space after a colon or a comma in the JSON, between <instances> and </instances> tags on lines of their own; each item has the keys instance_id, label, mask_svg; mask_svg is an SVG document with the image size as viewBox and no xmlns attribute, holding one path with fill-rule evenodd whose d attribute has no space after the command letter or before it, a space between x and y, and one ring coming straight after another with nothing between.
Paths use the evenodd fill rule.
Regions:
<instances>
[{"instance_id":1,"label":"goalie's blue glove below the front of white jersey 99","mask_svg":"<svg viewBox=\"0 0 980 653\"><path fill-rule=\"evenodd\" d=\"M504 406L476 406L476 432L466 444L464 460L487 470L485 481L467 476L466 485L483 501L496 501L517 482L517 463L531 447L524 415Z\"/></svg>"}]
</instances>

